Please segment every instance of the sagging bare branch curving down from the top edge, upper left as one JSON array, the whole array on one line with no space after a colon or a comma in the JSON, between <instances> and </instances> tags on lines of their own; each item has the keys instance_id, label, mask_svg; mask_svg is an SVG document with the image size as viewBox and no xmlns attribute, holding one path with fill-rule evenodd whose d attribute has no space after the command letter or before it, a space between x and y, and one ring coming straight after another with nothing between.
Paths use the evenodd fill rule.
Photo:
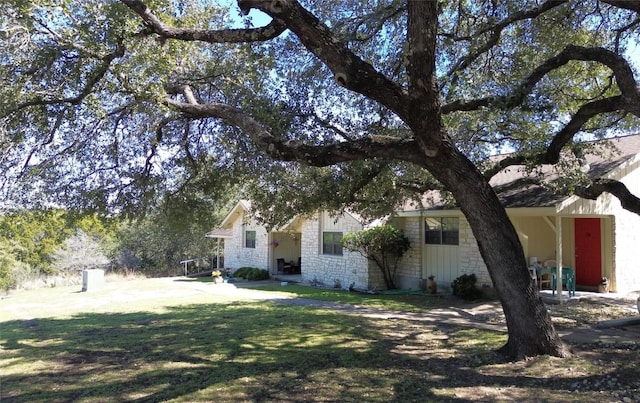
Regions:
<instances>
[{"instance_id":1,"label":"sagging bare branch curving down from the top edge, upper left","mask_svg":"<svg viewBox=\"0 0 640 403\"><path fill-rule=\"evenodd\" d=\"M272 20L267 26L253 29L210 30L175 28L162 22L142 1L121 0L121 2L138 14L151 32L167 39L207 43L262 42L278 37L287 29L287 27L277 19Z\"/></svg>"}]
</instances>

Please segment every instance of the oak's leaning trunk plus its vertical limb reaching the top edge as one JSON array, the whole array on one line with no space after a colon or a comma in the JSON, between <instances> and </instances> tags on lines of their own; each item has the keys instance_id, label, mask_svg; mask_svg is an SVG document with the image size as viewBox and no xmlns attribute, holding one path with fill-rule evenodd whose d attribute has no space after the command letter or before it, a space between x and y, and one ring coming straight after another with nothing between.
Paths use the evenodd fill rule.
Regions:
<instances>
[{"instance_id":1,"label":"oak's leaning trunk plus its vertical limb reaching the top edge","mask_svg":"<svg viewBox=\"0 0 640 403\"><path fill-rule=\"evenodd\" d=\"M408 1L408 113L403 116L425 154L424 166L451 191L469 221L507 320L510 357L568 355L535 290L511 220L476 166L446 134L435 74L437 2Z\"/></svg>"}]
</instances>

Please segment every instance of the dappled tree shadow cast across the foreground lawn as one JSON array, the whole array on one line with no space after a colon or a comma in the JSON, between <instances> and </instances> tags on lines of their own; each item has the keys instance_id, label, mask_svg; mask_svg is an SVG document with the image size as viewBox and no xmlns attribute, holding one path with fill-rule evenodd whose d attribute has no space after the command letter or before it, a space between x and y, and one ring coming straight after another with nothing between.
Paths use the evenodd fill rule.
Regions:
<instances>
[{"instance_id":1,"label":"dappled tree shadow cast across the foreground lawn","mask_svg":"<svg viewBox=\"0 0 640 403\"><path fill-rule=\"evenodd\" d=\"M509 371L481 374L478 367L499 362L488 351L501 340L470 346L469 334L457 337L422 325L400 337L394 323L271 302L5 322L0 397L443 401L434 388L563 390L569 382ZM428 332L441 337L421 339ZM443 349L452 356L436 353ZM589 377L570 382L584 379Z\"/></svg>"}]
</instances>

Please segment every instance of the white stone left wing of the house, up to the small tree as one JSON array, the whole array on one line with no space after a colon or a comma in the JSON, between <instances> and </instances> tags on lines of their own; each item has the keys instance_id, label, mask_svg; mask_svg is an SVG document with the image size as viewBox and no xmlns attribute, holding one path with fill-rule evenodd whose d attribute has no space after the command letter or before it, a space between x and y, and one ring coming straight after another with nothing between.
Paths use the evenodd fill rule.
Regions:
<instances>
[{"instance_id":1,"label":"white stone left wing of the house, up to the small tree","mask_svg":"<svg viewBox=\"0 0 640 403\"><path fill-rule=\"evenodd\" d=\"M274 277L278 259L298 266L305 283L346 288L382 287L381 274L369 270L367 259L342 248L342 235L363 229L365 223L348 212L320 212L296 217L282 228L267 231L251 210L251 203L239 201L222 220L220 227L206 236L224 239L226 268L257 267ZM231 234L222 236L220 234Z\"/></svg>"}]
</instances>

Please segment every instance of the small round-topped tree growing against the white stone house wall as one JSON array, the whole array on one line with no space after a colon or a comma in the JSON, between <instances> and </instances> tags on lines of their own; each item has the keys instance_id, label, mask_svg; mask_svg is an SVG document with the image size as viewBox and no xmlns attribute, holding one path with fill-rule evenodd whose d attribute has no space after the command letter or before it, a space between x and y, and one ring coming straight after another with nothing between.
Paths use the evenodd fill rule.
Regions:
<instances>
[{"instance_id":1,"label":"small round-topped tree growing against the white stone house wall","mask_svg":"<svg viewBox=\"0 0 640 403\"><path fill-rule=\"evenodd\" d=\"M395 277L398 262L409 250L411 243L402 230L392 225L364 229L345 234L342 244L348 250L358 251L368 260L375 262L389 289L396 288Z\"/></svg>"}]
</instances>

